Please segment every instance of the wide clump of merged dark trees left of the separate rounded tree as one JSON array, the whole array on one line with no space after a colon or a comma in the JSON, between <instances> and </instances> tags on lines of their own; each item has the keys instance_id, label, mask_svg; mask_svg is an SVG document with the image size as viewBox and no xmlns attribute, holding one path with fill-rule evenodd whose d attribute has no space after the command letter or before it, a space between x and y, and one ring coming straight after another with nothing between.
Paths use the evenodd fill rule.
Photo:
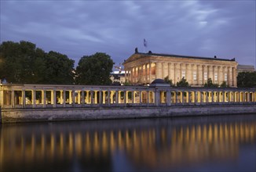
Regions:
<instances>
[{"instance_id":1,"label":"wide clump of merged dark trees left of the separate rounded tree","mask_svg":"<svg viewBox=\"0 0 256 172\"><path fill-rule=\"evenodd\" d=\"M74 60L29 41L0 45L0 79L13 84L73 84Z\"/></svg>"}]
</instances>

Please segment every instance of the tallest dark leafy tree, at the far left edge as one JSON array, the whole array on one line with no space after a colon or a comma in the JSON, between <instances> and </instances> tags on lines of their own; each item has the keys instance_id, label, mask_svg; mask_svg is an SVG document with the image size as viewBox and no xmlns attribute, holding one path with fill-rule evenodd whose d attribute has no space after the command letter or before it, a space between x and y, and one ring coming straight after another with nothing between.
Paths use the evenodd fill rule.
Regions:
<instances>
[{"instance_id":1,"label":"tallest dark leafy tree, at the far left edge","mask_svg":"<svg viewBox=\"0 0 256 172\"><path fill-rule=\"evenodd\" d=\"M28 41L0 45L0 79L16 84L37 84L44 73L45 52Z\"/></svg>"}]
</instances>

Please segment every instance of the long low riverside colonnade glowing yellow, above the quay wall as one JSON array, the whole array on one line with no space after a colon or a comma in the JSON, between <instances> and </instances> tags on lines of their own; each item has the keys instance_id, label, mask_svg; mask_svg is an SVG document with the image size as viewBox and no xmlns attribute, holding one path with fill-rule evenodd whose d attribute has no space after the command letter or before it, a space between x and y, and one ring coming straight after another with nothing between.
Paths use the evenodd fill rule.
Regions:
<instances>
[{"instance_id":1,"label":"long low riverside colonnade glowing yellow, above the quay wall","mask_svg":"<svg viewBox=\"0 0 256 172\"><path fill-rule=\"evenodd\" d=\"M256 90L144 86L0 85L2 109L94 106L183 106L254 103Z\"/></svg>"}]
</instances>

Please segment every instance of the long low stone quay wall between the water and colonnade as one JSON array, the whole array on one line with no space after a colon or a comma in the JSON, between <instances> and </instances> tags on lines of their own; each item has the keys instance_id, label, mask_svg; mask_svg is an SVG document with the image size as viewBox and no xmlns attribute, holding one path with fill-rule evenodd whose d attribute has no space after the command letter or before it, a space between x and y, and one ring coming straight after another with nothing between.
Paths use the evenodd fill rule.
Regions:
<instances>
[{"instance_id":1,"label":"long low stone quay wall between the water and colonnade","mask_svg":"<svg viewBox=\"0 0 256 172\"><path fill-rule=\"evenodd\" d=\"M2 113L2 114L1 114ZM256 105L2 109L2 124L63 120L104 120L255 113Z\"/></svg>"}]
</instances>

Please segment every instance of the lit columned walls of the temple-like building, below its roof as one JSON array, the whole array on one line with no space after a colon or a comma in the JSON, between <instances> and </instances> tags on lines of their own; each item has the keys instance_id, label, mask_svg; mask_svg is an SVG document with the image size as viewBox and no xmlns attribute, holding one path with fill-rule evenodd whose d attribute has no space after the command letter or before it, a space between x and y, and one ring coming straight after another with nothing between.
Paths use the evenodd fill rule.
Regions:
<instances>
[{"instance_id":1,"label":"lit columned walls of the temple-like building, below its roof","mask_svg":"<svg viewBox=\"0 0 256 172\"><path fill-rule=\"evenodd\" d=\"M226 82L230 87L236 87L236 67L193 64L193 63L160 63L151 62L138 66L126 67L125 78L131 83L152 83L156 78L169 77L176 84L184 77L189 85L203 85L209 78L215 84Z\"/></svg>"}]
</instances>

